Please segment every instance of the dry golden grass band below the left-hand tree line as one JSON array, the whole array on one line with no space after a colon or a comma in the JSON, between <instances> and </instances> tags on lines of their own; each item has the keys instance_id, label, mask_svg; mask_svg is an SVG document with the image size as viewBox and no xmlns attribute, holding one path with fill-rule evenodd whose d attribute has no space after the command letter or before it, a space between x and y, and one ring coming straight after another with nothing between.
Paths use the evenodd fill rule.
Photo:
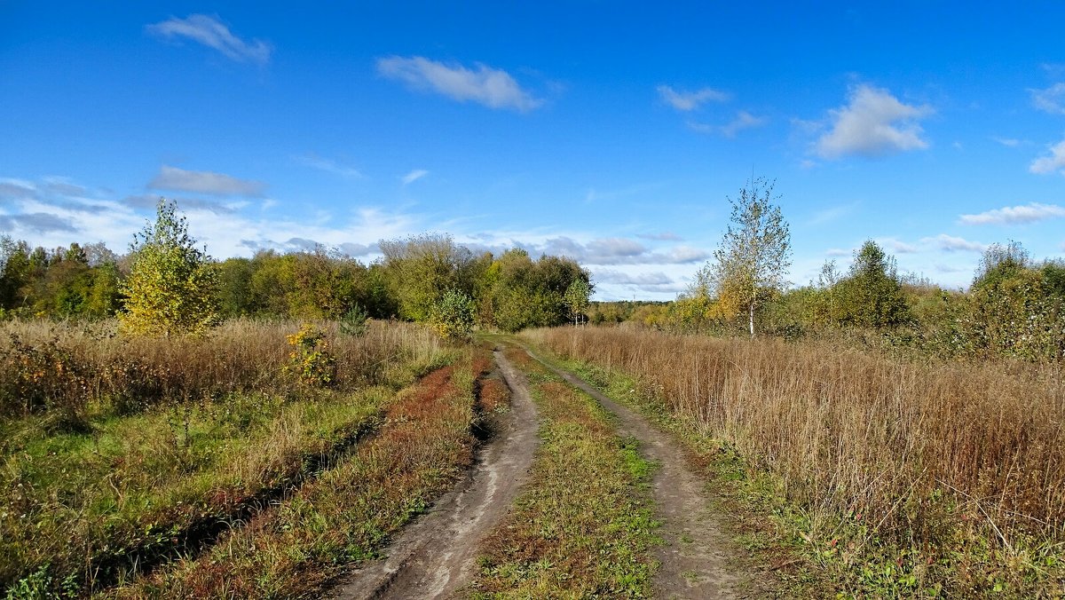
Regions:
<instances>
[{"instance_id":1,"label":"dry golden grass band below the left-hand tree line","mask_svg":"<svg viewBox=\"0 0 1065 600\"><path fill-rule=\"evenodd\" d=\"M341 389L386 379L400 361L431 362L441 350L430 330L409 324L375 322L358 338L339 335L335 323L317 325L337 359ZM231 392L298 391L282 368L291 352L285 337L299 327L236 320L194 339L119 336L113 321L2 323L0 418L52 408L130 413Z\"/></svg>"}]
</instances>

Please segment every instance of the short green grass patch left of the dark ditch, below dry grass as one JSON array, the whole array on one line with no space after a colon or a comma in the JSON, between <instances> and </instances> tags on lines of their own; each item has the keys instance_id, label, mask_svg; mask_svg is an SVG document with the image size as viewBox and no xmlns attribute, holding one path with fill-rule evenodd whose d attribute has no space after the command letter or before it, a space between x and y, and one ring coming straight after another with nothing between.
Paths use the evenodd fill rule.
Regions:
<instances>
[{"instance_id":1,"label":"short green grass patch left of the dark ditch, below dry grass","mask_svg":"<svg viewBox=\"0 0 1065 600\"><path fill-rule=\"evenodd\" d=\"M92 587L134 560L181 549L190 529L296 484L375 429L391 395L235 396L28 441L0 470L3 578L48 563L54 578L76 573Z\"/></svg>"}]
</instances>

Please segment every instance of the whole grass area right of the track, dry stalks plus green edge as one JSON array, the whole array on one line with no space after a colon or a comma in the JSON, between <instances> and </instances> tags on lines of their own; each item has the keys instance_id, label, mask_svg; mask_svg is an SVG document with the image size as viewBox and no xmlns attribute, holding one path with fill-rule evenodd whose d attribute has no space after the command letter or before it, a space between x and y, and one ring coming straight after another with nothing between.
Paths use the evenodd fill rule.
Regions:
<instances>
[{"instance_id":1,"label":"whole grass area right of the track, dry stalks plus green edge","mask_svg":"<svg viewBox=\"0 0 1065 600\"><path fill-rule=\"evenodd\" d=\"M760 487L843 589L1065 588L1065 385L1052 367L918 363L823 343L527 334L636 378Z\"/></svg>"}]
</instances>

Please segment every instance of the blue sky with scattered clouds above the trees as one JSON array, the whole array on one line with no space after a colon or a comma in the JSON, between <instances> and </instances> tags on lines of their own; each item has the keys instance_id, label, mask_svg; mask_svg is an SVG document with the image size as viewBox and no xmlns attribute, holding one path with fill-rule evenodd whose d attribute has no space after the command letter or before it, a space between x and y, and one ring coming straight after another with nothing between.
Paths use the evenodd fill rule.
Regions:
<instances>
[{"instance_id":1,"label":"blue sky with scattered clouds above the trees","mask_svg":"<svg viewBox=\"0 0 1065 600\"><path fill-rule=\"evenodd\" d=\"M1065 253L1065 5L0 1L0 232L215 257L423 231L669 299L775 179L803 285ZM987 7L984 7L987 6Z\"/></svg>"}]
</instances>

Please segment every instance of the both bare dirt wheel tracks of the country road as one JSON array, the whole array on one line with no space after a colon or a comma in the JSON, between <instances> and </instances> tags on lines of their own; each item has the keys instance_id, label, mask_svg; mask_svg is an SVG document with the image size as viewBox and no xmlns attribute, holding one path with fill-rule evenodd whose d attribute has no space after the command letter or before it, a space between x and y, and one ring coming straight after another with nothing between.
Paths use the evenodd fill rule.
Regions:
<instances>
[{"instance_id":1,"label":"both bare dirt wheel tracks of the country road","mask_svg":"<svg viewBox=\"0 0 1065 600\"><path fill-rule=\"evenodd\" d=\"M448 598L471 581L478 544L517 498L538 444L537 412L525 376L502 352L495 352L495 359L511 390L511 409L478 451L474 469L407 528L386 551L387 558L354 571L335 598ZM683 450L573 373L544 364L612 412L619 433L639 440L645 457L659 465L652 489L665 544L656 556L661 565L653 582L654 597L761 596L749 569L732 561L734 545L724 517L711 507L706 483L688 466Z\"/></svg>"}]
</instances>

